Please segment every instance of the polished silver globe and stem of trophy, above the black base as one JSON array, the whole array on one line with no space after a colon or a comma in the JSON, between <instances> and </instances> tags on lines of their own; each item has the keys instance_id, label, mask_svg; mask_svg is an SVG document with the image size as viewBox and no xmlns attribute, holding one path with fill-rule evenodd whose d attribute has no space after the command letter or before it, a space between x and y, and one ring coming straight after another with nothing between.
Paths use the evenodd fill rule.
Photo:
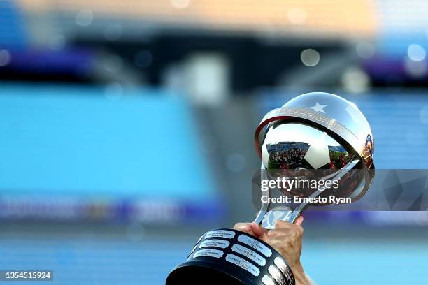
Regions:
<instances>
[{"instance_id":1,"label":"polished silver globe and stem of trophy, above the black base","mask_svg":"<svg viewBox=\"0 0 428 285\"><path fill-rule=\"evenodd\" d=\"M354 103L334 94L303 94L271 110L259 124L255 139L262 170L268 176L272 170L276 171L273 176L279 173L283 177L289 175L287 171L309 170L304 175L313 175L312 171L318 179L341 177L338 189L297 189L285 195L333 194L355 201L364 196L373 180L374 172L369 169L374 169L374 144L369 123ZM362 171L352 171L356 169ZM269 203L263 203L256 221L266 228L273 228L277 219L294 222L306 206L275 212Z\"/></svg>"}]
</instances>

